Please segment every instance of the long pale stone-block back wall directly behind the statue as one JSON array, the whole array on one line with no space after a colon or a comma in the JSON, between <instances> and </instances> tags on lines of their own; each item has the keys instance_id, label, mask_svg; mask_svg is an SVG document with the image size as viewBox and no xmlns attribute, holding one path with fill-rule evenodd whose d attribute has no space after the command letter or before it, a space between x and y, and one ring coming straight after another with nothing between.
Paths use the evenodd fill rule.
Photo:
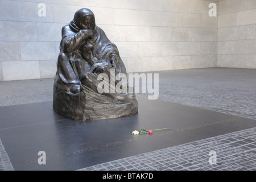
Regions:
<instances>
[{"instance_id":1,"label":"long pale stone-block back wall directly behind the statue","mask_svg":"<svg viewBox=\"0 0 256 182\"><path fill-rule=\"evenodd\" d=\"M52 78L61 27L82 7L93 10L128 72L217 67L222 28L218 16L208 15L211 2L218 7L218 0L1 0L0 80ZM46 5L46 16L38 15L39 3Z\"/></svg>"}]
</instances>

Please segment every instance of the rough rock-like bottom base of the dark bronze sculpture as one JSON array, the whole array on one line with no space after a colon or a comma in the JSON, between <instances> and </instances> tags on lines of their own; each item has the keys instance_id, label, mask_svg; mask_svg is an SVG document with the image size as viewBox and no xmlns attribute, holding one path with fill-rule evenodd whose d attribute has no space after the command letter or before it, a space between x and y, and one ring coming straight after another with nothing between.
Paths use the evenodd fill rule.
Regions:
<instances>
[{"instance_id":1,"label":"rough rock-like bottom base of the dark bronze sculpture","mask_svg":"<svg viewBox=\"0 0 256 182\"><path fill-rule=\"evenodd\" d=\"M84 92L53 93L53 110L66 118L79 121L95 121L129 117L138 114L138 101L115 103L103 98L101 94L94 95ZM100 101L102 99L102 101Z\"/></svg>"}]
</instances>

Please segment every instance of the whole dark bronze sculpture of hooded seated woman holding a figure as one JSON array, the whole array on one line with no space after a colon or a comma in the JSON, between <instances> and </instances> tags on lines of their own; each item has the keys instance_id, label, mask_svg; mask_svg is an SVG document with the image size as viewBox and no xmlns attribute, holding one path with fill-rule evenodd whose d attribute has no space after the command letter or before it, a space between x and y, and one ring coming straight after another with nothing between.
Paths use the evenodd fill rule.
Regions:
<instances>
[{"instance_id":1,"label":"whole dark bronze sculpture of hooded seated woman holding a figure","mask_svg":"<svg viewBox=\"0 0 256 182\"><path fill-rule=\"evenodd\" d=\"M61 34L53 109L67 118L82 121L137 114L138 102L134 93L98 93L102 81L99 75L110 78L113 69L115 75L126 75L126 69L115 44L96 26L92 11L78 10L74 19L62 28ZM104 81L113 88L110 79ZM114 84L127 86L125 82L120 78Z\"/></svg>"}]
</instances>

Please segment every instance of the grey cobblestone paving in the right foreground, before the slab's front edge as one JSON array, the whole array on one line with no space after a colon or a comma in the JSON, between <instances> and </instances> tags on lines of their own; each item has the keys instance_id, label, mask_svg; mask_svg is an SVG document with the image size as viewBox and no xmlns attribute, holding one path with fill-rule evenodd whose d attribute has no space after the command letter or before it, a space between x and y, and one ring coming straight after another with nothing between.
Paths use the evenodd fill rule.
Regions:
<instances>
[{"instance_id":1,"label":"grey cobblestone paving in the right foreground, before the slab's front edge","mask_svg":"<svg viewBox=\"0 0 256 182\"><path fill-rule=\"evenodd\" d=\"M209 163L210 151L216 152L216 164ZM212 160L210 160L212 161ZM81 171L183 171L256 169L256 127L196 142L114 160Z\"/></svg>"}]
</instances>

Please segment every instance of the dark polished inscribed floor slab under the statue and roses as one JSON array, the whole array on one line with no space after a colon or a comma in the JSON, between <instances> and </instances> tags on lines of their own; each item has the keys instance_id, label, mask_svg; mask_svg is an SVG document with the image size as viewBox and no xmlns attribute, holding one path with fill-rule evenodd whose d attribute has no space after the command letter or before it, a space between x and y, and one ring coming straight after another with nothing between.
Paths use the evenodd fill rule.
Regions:
<instances>
[{"instance_id":1,"label":"dark polished inscribed floor slab under the statue and roses","mask_svg":"<svg viewBox=\"0 0 256 182\"><path fill-rule=\"evenodd\" d=\"M52 110L52 102L0 108L0 138L15 170L75 170L256 126L253 119L147 100L137 96L139 114L80 122ZM152 135L133 130L161 129ZM46 165L38 164L45 151Z\"/></svg>"}]
</instances>

